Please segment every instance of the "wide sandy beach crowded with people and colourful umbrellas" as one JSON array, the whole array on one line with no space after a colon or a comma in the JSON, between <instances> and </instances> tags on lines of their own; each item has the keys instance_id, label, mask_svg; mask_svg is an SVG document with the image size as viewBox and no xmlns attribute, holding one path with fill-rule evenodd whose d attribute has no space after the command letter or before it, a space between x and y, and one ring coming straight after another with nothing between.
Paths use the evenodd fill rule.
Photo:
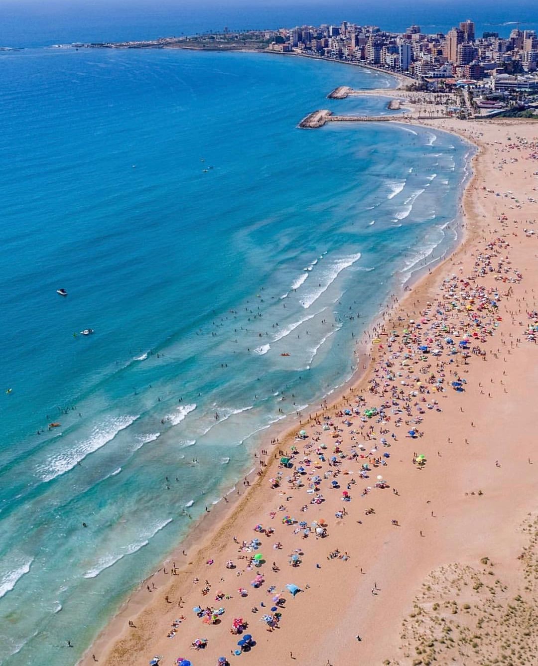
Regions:
<instances>
[{"instance_id":1,"label":"wide sandy beach crowded with people and colourful umbrellas","mask_svg":"<svg viewBox=\"0 0 538 666\"><path fill-rule=\"evenodd\" d=\"M81 664L533 663L538 125L421 123L478 147L465 240Z\"/></svg>"}]
</instances>

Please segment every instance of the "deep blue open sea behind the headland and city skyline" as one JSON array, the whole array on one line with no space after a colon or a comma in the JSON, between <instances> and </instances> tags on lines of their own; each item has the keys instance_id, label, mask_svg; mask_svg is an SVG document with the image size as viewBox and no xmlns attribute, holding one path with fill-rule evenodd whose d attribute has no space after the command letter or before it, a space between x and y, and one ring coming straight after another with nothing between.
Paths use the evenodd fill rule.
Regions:
<instances>
[{"instance_id":1,"label":"deep blue open sea behind the headland and city skyline","mask_svg":"<svg viewBox=\"0 0 538 666\"><path fill-rule=\"evenodd\" d=\"M472 7L463 0L449 3L404 0L336 3L313 0L2 0L0 46L35 47L74 41L153 39L230 29L276 29L350 21L405 31L411 23L426 33L446 32L459 21L472 19L476 33L495 31L507 37L519 22L521 29L537 29L533 3L479 0Z\"/></svg>"}]
</instances>

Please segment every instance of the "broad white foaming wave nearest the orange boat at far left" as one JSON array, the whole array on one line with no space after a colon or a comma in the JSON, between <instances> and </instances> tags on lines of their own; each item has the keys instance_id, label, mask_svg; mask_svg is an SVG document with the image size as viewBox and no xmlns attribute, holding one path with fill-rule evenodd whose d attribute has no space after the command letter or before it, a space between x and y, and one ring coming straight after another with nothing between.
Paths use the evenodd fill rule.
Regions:
<instances>
[{"instance_id":1,"label":"broad white foaming wave nearest the orange boat at far left","mask_svg":"<svg viewBox=\"0 0 538 666\"><path fill-rule=\"evenodd\" d=\"M95 426L91 436L83 442L75 444L69 450L63 450L47 458L47 462L36 468L37 474L44 482L49 482L57 476L69 472L83 461L86 456L93 454L98 449L111 442L115 436L125 428L129 428L140 416L116 416L105 421L105 423Z\"/></svg>"}]
</instances>

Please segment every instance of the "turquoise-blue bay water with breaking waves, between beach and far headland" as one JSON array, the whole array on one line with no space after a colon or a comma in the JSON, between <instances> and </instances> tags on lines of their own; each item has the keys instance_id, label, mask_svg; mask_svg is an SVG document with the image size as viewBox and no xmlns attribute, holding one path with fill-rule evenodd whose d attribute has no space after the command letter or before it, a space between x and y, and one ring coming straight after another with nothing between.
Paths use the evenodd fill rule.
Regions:
<instances>
[{"instance_id":1,"label":"turquoise-blue bay water with breaking waves, between beach and far headland","mask_svg":"<svg viewBox=\"0 0 538 666\"><path fill-rule=\"evenodd\" d=\"M1 663L74 663L184 507L349 378L380 303L453 244L467 147L296 129L386 107L336 85L391 81L247 53L2 55Z\"/></svg>"}]
</instances>

